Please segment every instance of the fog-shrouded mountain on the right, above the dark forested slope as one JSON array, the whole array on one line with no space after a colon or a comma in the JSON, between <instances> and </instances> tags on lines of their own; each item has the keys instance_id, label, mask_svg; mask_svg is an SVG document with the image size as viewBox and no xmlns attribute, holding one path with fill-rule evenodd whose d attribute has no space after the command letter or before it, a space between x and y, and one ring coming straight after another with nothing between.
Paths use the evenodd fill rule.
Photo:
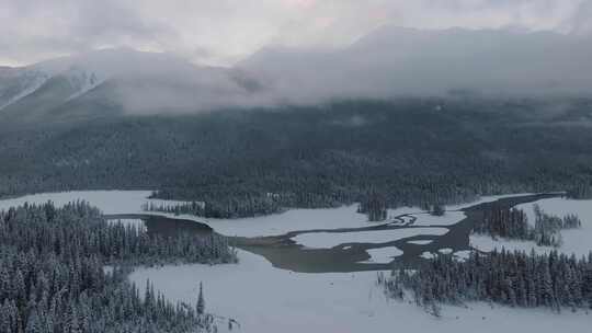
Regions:
<instances>
[{"instance_id":1,"label":"fog-shrouded mountain on the right, above the dark forested slope","mask_svg":"<svg viewBox=\"0 0 592 333\"><path fill-rule=\"evenodd\" d=\"M340 49L266 47L239 67L293 102L451 93L589 95L592 37L383 26Z\"/></svg>"}]
</instances>

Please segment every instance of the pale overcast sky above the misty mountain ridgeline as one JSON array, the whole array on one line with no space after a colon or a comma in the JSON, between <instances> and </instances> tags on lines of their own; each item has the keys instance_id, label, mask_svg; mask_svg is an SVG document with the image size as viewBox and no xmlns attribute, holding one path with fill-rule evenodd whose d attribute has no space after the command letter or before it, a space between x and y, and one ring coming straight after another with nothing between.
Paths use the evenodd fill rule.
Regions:
<instances>
[{"instance_id":1,"label":"pale overcast sky above the misty mountain ridgeline","mask_svg":"<svg viewBox=\"0 0 592 333\"><path fill-rule=\"evenodd\" d=\"M382 24L587 33L592 0L0 0L0 65L121 46L231 65L266 45L344 45Z\"/></svg>"}]
</instances>

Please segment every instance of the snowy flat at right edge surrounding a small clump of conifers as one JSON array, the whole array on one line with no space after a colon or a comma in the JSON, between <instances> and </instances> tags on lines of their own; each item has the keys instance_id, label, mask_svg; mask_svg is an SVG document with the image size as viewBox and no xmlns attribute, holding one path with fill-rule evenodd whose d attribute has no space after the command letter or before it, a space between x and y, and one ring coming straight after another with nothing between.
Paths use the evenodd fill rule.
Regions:
<instances>
[{"instance_id":1,"label":"snowy flat at right edge surrounding a small clump of conifers","mask_svg":"<svg viewBox=\"0 0 592 333\"><path fill-rule=\"evenodd\" d=\"M568 214L576 214L582 220L582 228L561 230L563 243L557 248L559 252L577 256L588 255L592 251L592 200L573 200L566 198L548 198L537 200L535 203L522 204L516 208L523 209L526 213L528 222L534 223L534 205L537 204L545 213L565 217ZM471 236L471 246L481 251L492 251L493 249L501 250L519 250L530 252L535 249L537 253L548 253L555 248L537 246L534 242L516 241L498 239L493 240L487 236Z\"/></svg>"}]
</instances>

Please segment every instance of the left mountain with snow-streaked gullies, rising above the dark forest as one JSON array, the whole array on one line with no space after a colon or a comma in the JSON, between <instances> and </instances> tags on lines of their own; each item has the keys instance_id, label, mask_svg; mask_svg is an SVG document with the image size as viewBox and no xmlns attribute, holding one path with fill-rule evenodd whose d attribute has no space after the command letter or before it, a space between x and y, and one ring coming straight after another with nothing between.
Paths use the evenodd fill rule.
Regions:
<instances>
[{"instance_id":1,"label":"left mountain with snow-streaked gullies, rising above the dark forest","mask_svg":"<svg viewBox=\"0 0 592 333\"><path fill-rule=\"evenodd\" d=\"M260 105L238 70L197 67L169 54L107 49L0 70L0 117L196 112Z\"/></svg>"}]
</instances>

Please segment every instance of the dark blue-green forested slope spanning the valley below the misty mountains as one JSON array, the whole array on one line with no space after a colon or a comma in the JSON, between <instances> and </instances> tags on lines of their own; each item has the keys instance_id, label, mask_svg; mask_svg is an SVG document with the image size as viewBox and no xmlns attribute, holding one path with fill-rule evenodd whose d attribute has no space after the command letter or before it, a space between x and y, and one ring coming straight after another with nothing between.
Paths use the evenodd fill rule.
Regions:
<instances>
[{"instance_id":1,"label":"dark blue-green forested slope spanning the valley below the misty mountains","mask_svg":"<svg viewBox=\"0 0 592 333\"><path fill-rule=\"evenodd\" d=\"M153 188L213 216L565 191L592 179L588 100L405 99L95 117L0 131L0 195ZM106 113L109 114L109 113Z\"/></svg>"}]
</instances>

